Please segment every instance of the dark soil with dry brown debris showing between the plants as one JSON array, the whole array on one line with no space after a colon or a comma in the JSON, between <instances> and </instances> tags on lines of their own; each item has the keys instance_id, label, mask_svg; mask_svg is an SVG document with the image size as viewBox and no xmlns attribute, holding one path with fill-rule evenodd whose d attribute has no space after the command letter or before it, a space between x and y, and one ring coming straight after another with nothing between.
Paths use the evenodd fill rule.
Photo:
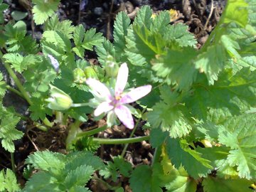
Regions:
<instances>
[{"instance_id":1,"label":"dark soil with dry brown debris showing between the plants","mask_svg":"<svg viewBox=\"0 0 256 192\"><path fill-rule=\"evenodd\" d=\"M4 1L6 4L10 5L8 11L5 12L6 22L11 19L11 11L23 11L29 10L29 4L24 4L24 1ZM198 40L198 48L201 48L203 43L208 38L210 31L213 30L216 23L220 19L220 15L225 6L225 1L221 0L63 0L60 1L60 6L58 9L58 16L60 20L69 19L73 21L74 25L82 24L86 29L96 28L106 36L110 41L112 41L112 31L114 17L119 11L125 11L130 16L134 18L137 10L143 6L149 5L154 12L161 10L176 10L176 15L174 17L173 23L186 23L189 27L189 31L193 33ZM29 11L28 11L29 12ZM28 14L26 18L23 19L27 23L28 33L31 32L31 14ZM41 26L36 26L35 35L36 38L41 37ZM95 53L89 53L86 55L87 59L95 60L97 58ZM10 85L14 86L11 82L8 74L3 68L0 68L1 72L4 73L4 78ZM14 106L17 112L23 115L28 115L26 102L19 97L16 97L11 92L6 93L4 99L5 106ZM104 120L103 120L104 121ZM97 127L98 124L104 122L87 122L81 124L82 129L90 129L92 127ZM136 136L148 135L149 132L142 129L144 122L140 123L139 129L135 132ZM31 152L36 150L49 149L50 151L58 151L65 153L65 138L67 132L65 127L61 127L58 124L50 129L49 132L41 132L38 129L32 129L32 122L21 121L18 124L18 129L21 129L25 135L23 139L16 141L16 151L14 153L16 171L18 173L18 180L23 185L26 180L22 176L24 161L26 157L31 154ZM106 138L127 138L130 134L129 129L125 129L122 125L114 127L113 129L107 129L102 132L98 137ZM111 160L112 156L117 156L121 154L123 149L122 145L102 145L97 150L97 155L100 156L104 161ZM147 142L141 142L137 144L129 144L127 149L127 154L125 158L127 161L132 163L133 166L138 164L151 164L151 159L154 150ZM0 170L10 168L11 169L11 157L10 154L1 147L0 145ZM120 178L125 191L131 191L129 188L129 183L127 179ZM107 181L110 182L110 181ZM113 183L111 183L113 184ZM95 181L90 183L90 189L92 191L105 191L105 187L100 185ZM201 187L198 188L201 191Z\"/></svg>"}]
</instances>

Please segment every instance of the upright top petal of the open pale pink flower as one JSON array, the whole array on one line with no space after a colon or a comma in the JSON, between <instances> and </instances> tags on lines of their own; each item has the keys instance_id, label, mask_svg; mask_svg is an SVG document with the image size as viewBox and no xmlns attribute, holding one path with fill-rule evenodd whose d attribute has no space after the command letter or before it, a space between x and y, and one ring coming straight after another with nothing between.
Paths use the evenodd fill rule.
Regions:
<instances>
[{"instance_id":1,"label":"upright top petal of the open pale pink flower","mask_svg":"<svg viewBox=\"0 0 256 192\"><path fill-rule=\"evenodd\" d=\"M114 87L114 95L120 95L124 91L124 87L127 85L128 74L129 70L127 63L123 63L118 70L117 82Z\"/></svg>"}]
</instances>

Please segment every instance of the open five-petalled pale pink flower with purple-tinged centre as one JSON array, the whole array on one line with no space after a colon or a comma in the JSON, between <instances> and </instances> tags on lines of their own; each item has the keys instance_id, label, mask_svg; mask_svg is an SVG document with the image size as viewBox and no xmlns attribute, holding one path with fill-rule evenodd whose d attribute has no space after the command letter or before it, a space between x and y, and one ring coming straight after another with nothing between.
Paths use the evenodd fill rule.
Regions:
<instances>
[{"instance_id":1,"label":"open five-petalled pale pink flower with purple-tinged centre","mask_svg":"<svg viewBox=\"0 0 256 192\"><path fill-rule=\"evenodd\" d=\"M129 129L134 128L134 120L132 119L132 112L129 110L127 104L135 102L151 91L151 85L144 85L137 87L129 92L124 92L124 87L128 79L127 63L123 63L117 74L117 82L114 90L110 90L102 82L88 78L87 85L92 90L97 100L100 100L100 105L97 106L94 114L99 116L102 113L107 113L108 118L113 119L113 115L117 115L118 119Z\"/></svg>"}]
</instances>

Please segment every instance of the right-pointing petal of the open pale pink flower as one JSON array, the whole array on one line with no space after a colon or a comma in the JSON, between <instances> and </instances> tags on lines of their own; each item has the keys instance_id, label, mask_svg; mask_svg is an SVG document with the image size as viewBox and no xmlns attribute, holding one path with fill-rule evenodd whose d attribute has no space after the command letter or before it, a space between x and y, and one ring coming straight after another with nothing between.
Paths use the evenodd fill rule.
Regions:
<instances>
[{"instance_id":1,"label":"right-pointing petal of the open pale pink flower","mask_svg":"<svg viewBox=\"0 0 256 192\"><path fill-rule=\"evenodd\" d=\"M126 103L137 101L140 98L144 97L145 95L148 95L149 92L151 91L151 88L152 88L151 85L144 85L142 87L137 87L134 90L127 92L127 94L124 95L119 102L126 104Z\"/></svg>"}]
</instances>

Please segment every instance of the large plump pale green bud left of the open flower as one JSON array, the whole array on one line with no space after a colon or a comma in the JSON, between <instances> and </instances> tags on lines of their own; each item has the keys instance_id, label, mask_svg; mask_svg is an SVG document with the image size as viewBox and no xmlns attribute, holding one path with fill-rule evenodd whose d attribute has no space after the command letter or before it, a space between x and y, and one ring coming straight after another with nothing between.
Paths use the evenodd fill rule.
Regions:
<instances>
[{"instance_id":1,"label":"large plump pale green bud left of the open flower","mask_svg":"<svg viewBox=\"0 0 256 192\"><path fill-rule=\"evenodd\" d=\"M52 110L68 110L73 104L73 100L62 90L50 85L50 97L46 100L48 107Z\"/></svg>"}]
</instances>

